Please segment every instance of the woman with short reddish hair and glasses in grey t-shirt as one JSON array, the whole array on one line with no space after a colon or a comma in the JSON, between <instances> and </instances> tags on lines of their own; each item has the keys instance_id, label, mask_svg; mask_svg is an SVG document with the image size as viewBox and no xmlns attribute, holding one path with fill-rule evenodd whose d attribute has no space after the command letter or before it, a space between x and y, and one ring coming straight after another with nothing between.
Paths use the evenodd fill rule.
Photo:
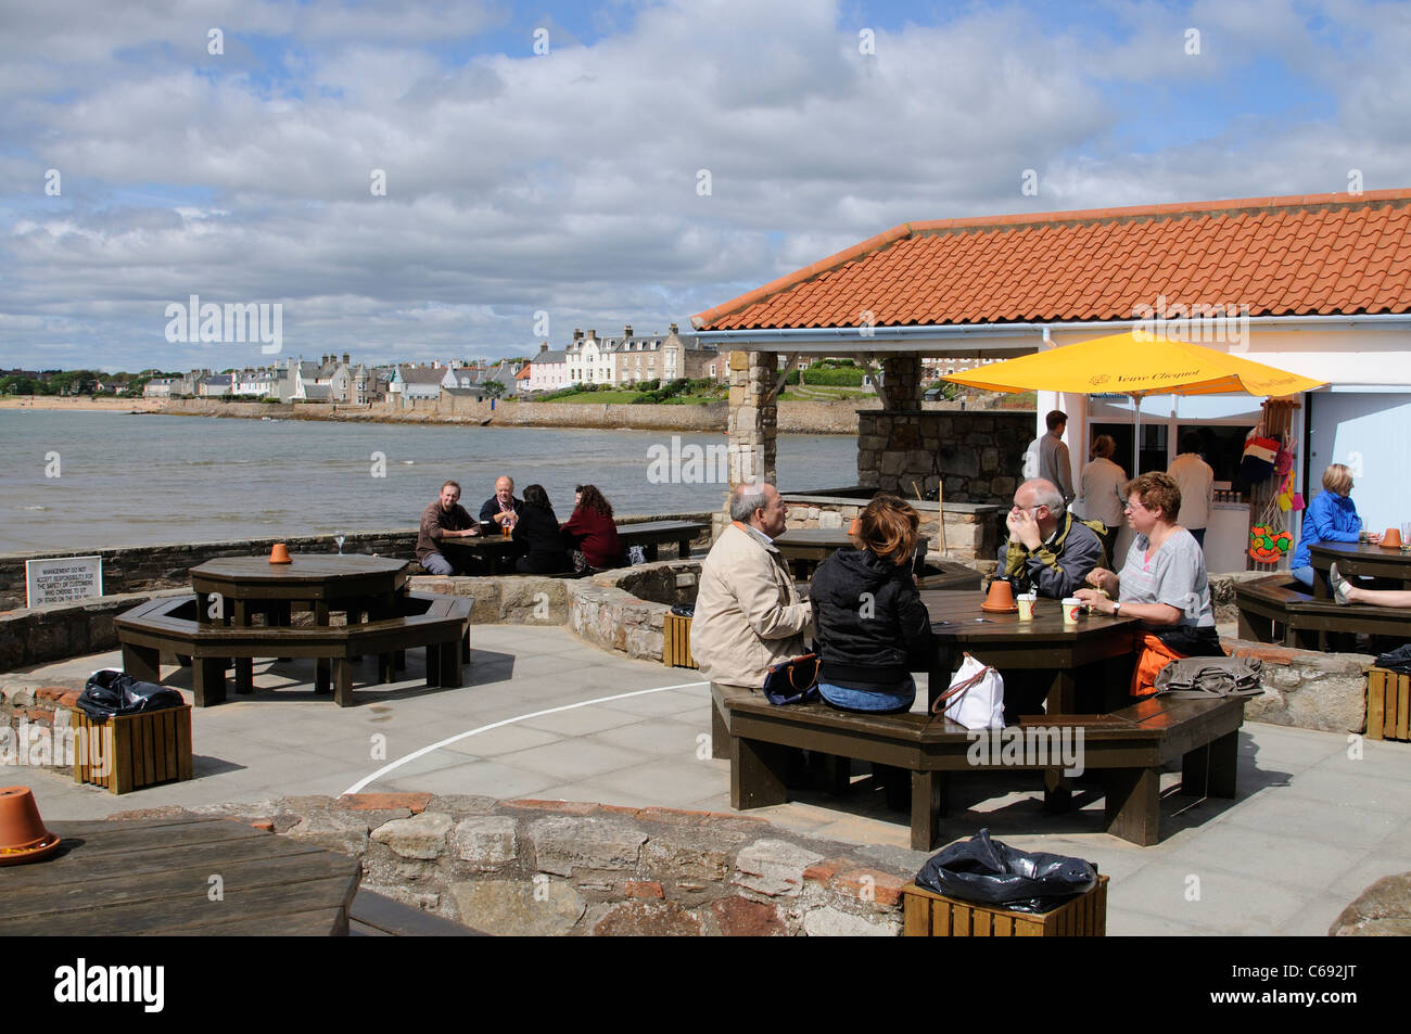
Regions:
<instances>
[{"instance_id":1,"label":"woman with short reddish hair and glasses in grey t-shirt","mask_svg":"<svg viewBox=\"0 0 1411 1034\"><path fill-rule=\"evenodd\" d=\"M1205 553L1175 523L1181 489L1170 474L1141 474L1127 482L1127 526L1136 532L1122 574L1098 567L1094 588L1078 598L1099 614L1140 618L1147 632L1139 640L1132 695L1154 691L1156 676L1177 657L1223 657L1215 633L1215 608L1205 573ZM1101 591L1099 591L1101 590Z\"/></svg>"}]
</instances>

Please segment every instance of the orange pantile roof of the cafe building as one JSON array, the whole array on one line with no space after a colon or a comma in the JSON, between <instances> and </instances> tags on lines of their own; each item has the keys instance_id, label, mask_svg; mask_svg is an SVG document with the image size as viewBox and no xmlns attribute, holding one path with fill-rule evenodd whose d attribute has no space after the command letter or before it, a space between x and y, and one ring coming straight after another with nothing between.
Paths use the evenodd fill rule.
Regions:
<instances>
[{"instance_id":1,"label":"orange pantile roof of the cafe building","mask_svg":"<svg viewBox=\"0 0 1411 1034\"><path fill-rule=\"evenodd\" d=\"M691 317L700 330L1411 312L1411 190L903 223Z\"/></svg>"}]
</instances>

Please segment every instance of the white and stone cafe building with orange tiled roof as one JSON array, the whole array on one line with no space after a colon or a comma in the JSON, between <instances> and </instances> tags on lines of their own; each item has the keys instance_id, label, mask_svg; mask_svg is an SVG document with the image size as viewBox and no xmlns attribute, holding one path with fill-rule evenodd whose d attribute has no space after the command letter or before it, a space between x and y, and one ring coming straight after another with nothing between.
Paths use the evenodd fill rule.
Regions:
<instances>
[{"instance_id":1,"label":"white and stone cafe building with orange tiled roof","mask_svg":"<svg viewBox=\"0 0 1411 1034\"><path fill-rule=\"evenodd\" d=\"M1141 470L1165 470L1187 430L1199 433L1215 468L1223 501L1206 536L1212 570L1245 567L1250 502L1260 508L1268 492L1240 481L1239 460L1261 422L1292 447L1307 498L1329 463L1345 463L1369 526L1411 518L1411 190L904 223L693 324L701 344L734 353L734 480L776 474L775 399L786 370L854 355L879 374L883 403L861 416L858 488L941 487L947 508L998 502L1012 491L1006 474L1017 474L1013 444L982 442L985 433L958 442L951 425L937 437L944 413L921 401L923 360L988 363L1144 330L1326 382L1271 408L1249 395L1141 401ZM1026 437L1044 432L1050 409L1068 413L1075 480L1102 433L1132 473L1130 398L1038 392L1036 409ZM993 466L996 453L1006 467L998 477L962 477L976 454ZM986 498L964 498L972 485L981 494L988 485ZM1297 535L1297 513L1284 521Z\"/></svg>"}]
</instances>

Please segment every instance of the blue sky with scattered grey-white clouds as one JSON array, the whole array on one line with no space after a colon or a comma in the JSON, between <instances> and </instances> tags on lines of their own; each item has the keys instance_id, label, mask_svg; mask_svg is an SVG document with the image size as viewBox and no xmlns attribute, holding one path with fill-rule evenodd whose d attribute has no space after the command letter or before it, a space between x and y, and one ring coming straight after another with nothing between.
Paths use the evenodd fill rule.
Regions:
<instances>
[{"instance_id":1,"label":"blue sky with scattered grey-white clouds","mask_svg":"<svg viewBox=\"0 0 1411 1034\"><path fill-rule=\"evenodd\" d=\"M1407 188L1407 52L1370 0L0 0L0 368L531 354L907 220Z\"/></svg>"}]
</instances>

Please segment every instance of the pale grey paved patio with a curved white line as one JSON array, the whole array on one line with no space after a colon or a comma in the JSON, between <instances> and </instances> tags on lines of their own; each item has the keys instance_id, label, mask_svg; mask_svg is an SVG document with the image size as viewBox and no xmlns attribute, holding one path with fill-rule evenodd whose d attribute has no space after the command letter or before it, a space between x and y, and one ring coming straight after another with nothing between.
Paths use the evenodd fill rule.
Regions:
<instances>
[{"instance_id":1,"label":"pale grey paved patio with a curved white line","mask_svg":"<svg viewBox=\"0 0 1411 1034\"><path fill-rule=\"evenodd\" d=\"M560 628L478 625L473 646L464 688L425 688L418 650L406 681L358 687L351 708L313 697L309 662L257 666L253 697L193 712L196 779L186 783L116 797L55 772L0 777L31 786L54 821L354 786L729 810L728 763L710 759L710 694L694 671L626 660ZM82 680L120 664L107 653L31 674ZM189 670L164 673L189 690ZM1165 838L1153 848L1101 832L1096 784L1078 783L1079 810L1044 815L1036 773L955 780L945 829L965 838L988 825L1015 846L1095 862L1112 877L1115 935L1322 935L1367 884L1411 870L1411 745L1247 722L1240 756L1239 797L1167 797ZM809 796L752 814L785 832L906 851L906 817L869 790L859 773L841 801Z\"/></svg>"}]
</instances>

